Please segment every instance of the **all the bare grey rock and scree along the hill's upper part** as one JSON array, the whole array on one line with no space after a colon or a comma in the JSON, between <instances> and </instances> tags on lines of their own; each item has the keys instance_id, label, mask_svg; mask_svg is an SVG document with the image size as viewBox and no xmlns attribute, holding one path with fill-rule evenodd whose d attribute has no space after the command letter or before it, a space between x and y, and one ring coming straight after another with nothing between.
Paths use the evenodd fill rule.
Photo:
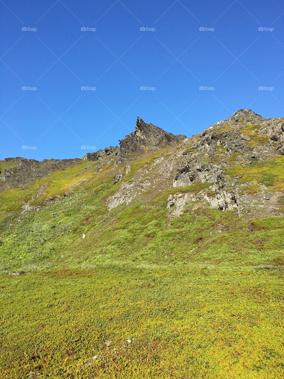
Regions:
<instances>
[{"instance_id":1,"label":"all the bare grey rock and scree along the hill's upper part","mask_svg":"<svg viewBox=\"0 0 284 379\"><path fill-rule=\"evenodd\" d=\"M281 117L265 119L242 109L191 138L175 136L138 117L134 132L119 143L119 147L111 146L83 157L95 164L96 171L114 167L111 171L113 183L121 184L116 193L106 198L109 210L121 204L144 201L144 194L150 190L157 193L172 188L167 204L169 220L195 203L218 210L233 210L238 216L247 218L281 213L279 204L284 198L284 189L273 184L273 177L278 173L261 176L265 162L273 168L273 162L284 155L284 119ZM135 161L155 152L155 161L139 166L130 176ZM5 162L17 164L0 173L0 190L31 182L58 169L79 164L81 160L38 162L6 158ZM193 191L194 186L199 189ZM188 190L181 191L181 188Z\"/></svg>"}]
</instances>

